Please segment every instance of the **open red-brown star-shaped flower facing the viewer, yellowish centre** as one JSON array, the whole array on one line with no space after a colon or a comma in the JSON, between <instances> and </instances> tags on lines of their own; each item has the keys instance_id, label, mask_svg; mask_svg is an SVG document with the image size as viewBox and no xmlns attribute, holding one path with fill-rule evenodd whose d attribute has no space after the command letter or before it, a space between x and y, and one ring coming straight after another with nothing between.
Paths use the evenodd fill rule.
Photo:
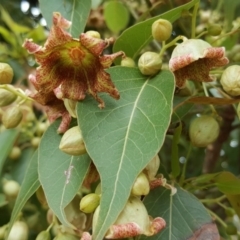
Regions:
<instances>
[{"instance_id":1,"label":"open red-brown star-shaped flower facing the viewer, yellowish centre","mask_svg":"<svg viewBox=\"0 0 240 240\"><path fill-rule=\"evenodd\" d=\"M124 53L120 51L101 56L113 39L102 40L85 33L75 39L65 31L70 25L71 22L55 12L53 26L43 47L31 39L26 39L23 43L23 47L34 54L39 64L36 76L30 78L37 92L30 96L48 107L50 120L58 115L66 118L67 110L63 111L64 98L79 101L88 93L99 102L99 107L103 108L104 102L98 96L99 92L109 93L115 99L120 97L110 75L104 69L110 67L116 57L124 56ZM62 101L62 104L57 99ZM69 119L71 120L71 117ZM61 132L67 130L67 124L69 122L65 122Z\"/></svg>"}]
</instances>

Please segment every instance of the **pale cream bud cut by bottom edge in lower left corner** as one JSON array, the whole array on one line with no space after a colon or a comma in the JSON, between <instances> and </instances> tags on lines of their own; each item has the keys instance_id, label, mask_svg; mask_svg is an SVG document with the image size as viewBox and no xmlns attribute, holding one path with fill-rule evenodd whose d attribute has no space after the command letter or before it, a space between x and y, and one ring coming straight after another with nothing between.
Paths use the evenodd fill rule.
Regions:
<instances>
[{"instance_id":1,"label":"pale cream bud cut by bottom edge in lower left corner","mask_svg":"<svg viewBox=\"0 0 240 240\"><path fill-rule=\"evenodd\" d=\"M8 240L27 240L28 226L25 222L17 221L9 233Z\"/></svg>"}]
</instances>

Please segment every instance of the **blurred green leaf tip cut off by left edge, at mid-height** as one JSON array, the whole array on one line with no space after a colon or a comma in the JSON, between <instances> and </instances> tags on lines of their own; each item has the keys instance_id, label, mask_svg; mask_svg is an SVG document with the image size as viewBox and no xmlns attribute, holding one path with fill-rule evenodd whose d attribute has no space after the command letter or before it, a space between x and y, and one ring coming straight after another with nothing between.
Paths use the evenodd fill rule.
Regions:
<instances>
[{"instance_id":1,"label":"blurred green leaf tip cut off by left edge, at mid-height","mask_svg":"<svg viewBox=\"0 0 240 240\"><path fill-rule=\"evenodd\" d=\"M17 136L17 129L8 129L0 133L0 173L2 172L3 164L14 145Z\"/></svg>"}]
</instances>

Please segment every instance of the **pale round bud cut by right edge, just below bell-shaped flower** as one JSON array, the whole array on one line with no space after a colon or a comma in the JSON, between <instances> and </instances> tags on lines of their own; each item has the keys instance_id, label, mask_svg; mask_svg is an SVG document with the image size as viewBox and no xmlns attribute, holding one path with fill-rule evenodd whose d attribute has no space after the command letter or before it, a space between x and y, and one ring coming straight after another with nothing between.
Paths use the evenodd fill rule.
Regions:
<instances>
[{"instance_id":1,"label":"pale round bud cut by right edge, just below bell-shaped flower","mask_svg":"<svg viewBox=\"0 0 240 240\"><path fill-rule=\"evenodd\" d=\"M223 89L231 96L240 95L240 66L226 68L220 79Z\"/></svg>"}]
</instances>

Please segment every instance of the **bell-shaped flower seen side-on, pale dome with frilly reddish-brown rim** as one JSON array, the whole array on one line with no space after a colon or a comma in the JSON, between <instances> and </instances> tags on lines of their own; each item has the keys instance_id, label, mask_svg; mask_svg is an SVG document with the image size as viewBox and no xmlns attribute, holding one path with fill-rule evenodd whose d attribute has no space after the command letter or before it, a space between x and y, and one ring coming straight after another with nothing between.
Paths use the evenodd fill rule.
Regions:
<instances>
[{"instance_id":1,"label":"bell-shaped flower seen side-on, pale dome with frilly reddish-brown rim","mask_svg":"<svg viewBox=\"0 0 240 240\"><path fill-rule=\"evenodd\" d=\"M209 71L228 64L224 47L212 47L201 39L189 39L175 47L169 69L175 75L176 86L183 88L186 80L211 82Z\"/></svg>"}]
</instances>

